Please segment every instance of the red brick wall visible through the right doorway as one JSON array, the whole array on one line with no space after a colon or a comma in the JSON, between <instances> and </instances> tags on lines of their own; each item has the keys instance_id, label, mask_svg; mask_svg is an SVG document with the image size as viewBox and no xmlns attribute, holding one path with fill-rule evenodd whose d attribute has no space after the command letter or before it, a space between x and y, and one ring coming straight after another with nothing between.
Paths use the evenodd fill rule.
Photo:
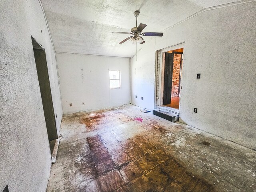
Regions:
<instances>
[{"instance_id":1,"label":"red brick wall visible through the right doorway","mask_svg":"<svg viewBox=\"0 0 256 192\"><path fill-rule=\"evenodd\" d=\"M172 97L179 96L180 59L181 59L181 54L174 53L173 72L172 72Z\"/></svg>"}]
</instances>

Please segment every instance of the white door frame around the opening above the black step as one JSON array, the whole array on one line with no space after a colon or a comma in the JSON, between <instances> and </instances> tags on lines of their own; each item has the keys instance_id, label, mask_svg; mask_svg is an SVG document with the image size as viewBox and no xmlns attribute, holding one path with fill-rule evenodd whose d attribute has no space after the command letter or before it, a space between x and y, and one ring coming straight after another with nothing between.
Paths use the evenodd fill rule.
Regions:
<instances>
[{"instance_id":1,"label":"white door frame around the opening above the black step","mask_svg":"<svg viewBox=\"0 0 256 192\"><path fill-rule=\"evenodd\" d=\"M154 97L154 108L164 108L166 110L172 110L170 107L162 106L163 104L163 97L164 97L164 60L165 60L165 52L176 50L184 48L185 49L185 42L180 42L178 44L163 48L161 50L156 51L156 64L155 64L155 97ZM160 52L160 59L159 59L159 65L158 65L158 53ZM182 55L183 58L183 64L184 64L184 52ZM159 68L158 68L159 67ZM158 74L159 71L159 74ZM182 72L182 71L181 71ZM159 76L159 77L158 77ZM159 78L159 81L157 81L157 78ZM180 82L180 86L182 85L182 82ZM157 88L159 90L157 90ZM180 94L181 95L181 94ZM181 98L181 97L180 97ZM176 112L180 112L179 110L176 110Z\"/></svg>"}]
</instances>

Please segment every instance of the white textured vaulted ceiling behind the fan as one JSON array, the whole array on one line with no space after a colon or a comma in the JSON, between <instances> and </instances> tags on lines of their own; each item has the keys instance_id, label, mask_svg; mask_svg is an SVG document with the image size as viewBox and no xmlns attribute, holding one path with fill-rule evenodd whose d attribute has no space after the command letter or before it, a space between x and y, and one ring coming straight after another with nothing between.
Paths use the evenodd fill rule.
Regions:
<instances>
[{"instance_id":1,"label":"white textured vaulted ceiling behind the fan","mask_svg":"<svg viewBox=\"0 0 256 192\"><path fill-rule=\"evenodd\" d=\"M130 32L135 27L134 11L140 10L138 24L148 25L143 32L162 32L203 8L238 0L41 1L56 52L131 57L136 44L119 44L130 35L111 32Z\"/></svg>"}]
</instances>

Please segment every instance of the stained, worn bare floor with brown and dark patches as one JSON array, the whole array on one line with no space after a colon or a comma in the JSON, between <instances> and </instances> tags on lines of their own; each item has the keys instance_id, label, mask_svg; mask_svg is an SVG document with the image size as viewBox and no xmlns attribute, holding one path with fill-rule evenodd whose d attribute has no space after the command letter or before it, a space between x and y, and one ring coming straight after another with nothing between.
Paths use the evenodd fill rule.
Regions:
<instances>
[{"instance_id":1,"label":"stained, worn bare floor with brown and dark patches","mask_svg":"<svg viewBox=\"0 0 256 192\"><path fill-rule=\"evenodd\" d=\"M63 116L60 134L48 192L256 191L255 151L133 105Z\"/></svg>"}]
</instances>

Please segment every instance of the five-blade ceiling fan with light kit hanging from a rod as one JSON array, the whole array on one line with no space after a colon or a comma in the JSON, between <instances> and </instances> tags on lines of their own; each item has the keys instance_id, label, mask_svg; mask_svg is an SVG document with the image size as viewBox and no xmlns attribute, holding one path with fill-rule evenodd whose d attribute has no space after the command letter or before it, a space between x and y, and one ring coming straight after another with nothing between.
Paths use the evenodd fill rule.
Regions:
<instances>
[{"instance_id":1,"label":"five-blade ceiling fan with light kit hanging from a rod","mask_svg":"<svg viewBox=\"0 0 256 192\"><path fill-rule=\"evenodd\" d=\"M126 42L127 40L130 40L132 42L139 42L140 44L145 43L142 36L157 36L162 37L163 33L155 33L155 32L142 32L144 28L147 26L146 24L140 23L137 27L137 17L140 14L140 12L137 10L134 13L134 16L136 17L136 27L131 28L131 32L112 32L117 34L132 34L133 36L130 36L120 42L120 44ZM142 36L141 36L142 35Z\"/></svg>"}]
</instances>

